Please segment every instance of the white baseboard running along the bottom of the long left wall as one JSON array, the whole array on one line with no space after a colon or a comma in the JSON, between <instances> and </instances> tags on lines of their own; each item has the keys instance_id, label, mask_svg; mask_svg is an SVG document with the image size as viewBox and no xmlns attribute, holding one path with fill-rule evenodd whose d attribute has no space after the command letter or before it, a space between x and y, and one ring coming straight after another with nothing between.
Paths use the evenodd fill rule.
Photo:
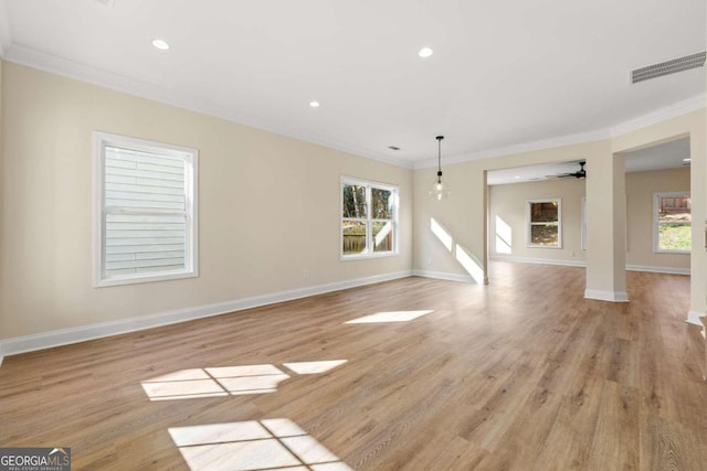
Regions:
<instances>
[{"instance_id":1,"label":"white baseboard running along the bottom of the long left wall","mask_svg":"<svg viewBox=\"0 0 707 471\"><path fill-rule=\"evenodd\" d=\"M67 345L77 342L85 342L87 340L95 340L127 332L152 329L161 325L191 321L194 319L209 318L212 315L242 311L244 309L257 308L276 302L291 301L309 296L323 295L325 292L339 291L342 289L356 288L365 285L407 278L412 275L412 270L387 275L376 275L372 277L337 281L333 283L275 292L272 295L255 296L252 298L243 298L233 301L219 302L215 304L198 306L192 308L178 309L175 311L141 315L137 318L120 319L118 321L103 322L99 324L81 325L77 328L44 332L34 335L4 339L0 340L0 365L2 364L4 355L17 355L19 353L33 352L36 350L51 349L54 346Z\"/></svg>"}]
</instances>

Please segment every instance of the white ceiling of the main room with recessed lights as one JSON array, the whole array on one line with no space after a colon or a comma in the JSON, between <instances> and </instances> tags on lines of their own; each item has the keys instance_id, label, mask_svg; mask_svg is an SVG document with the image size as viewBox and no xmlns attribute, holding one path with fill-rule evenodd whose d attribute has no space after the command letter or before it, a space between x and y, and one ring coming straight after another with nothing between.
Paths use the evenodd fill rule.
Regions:
<instances>
[{"instance_id":1,"label":"white ceiling of the main room with recessed lights","mask_svg":"<svg viewBox=\"0 0 707 471\"><path fill-rule=\"evenodd\" d=\"M704 67L639 85L629 71L704 51L705 18L704 0L0 0L0 53L426 167L436 135L451 162L704 105Z\"/></svg>"}]
</instances>

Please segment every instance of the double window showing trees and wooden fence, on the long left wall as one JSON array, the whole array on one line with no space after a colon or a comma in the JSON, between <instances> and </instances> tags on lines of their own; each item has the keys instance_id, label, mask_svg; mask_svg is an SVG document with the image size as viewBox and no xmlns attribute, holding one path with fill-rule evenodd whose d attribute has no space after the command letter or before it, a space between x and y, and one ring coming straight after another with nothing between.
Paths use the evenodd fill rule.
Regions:
<instances>
[{"instance_id":1,"label":"double window showing trees and wooden fence, on the long left wall","mask_svg":"<svg viewBox=\"0 0 707 471\"><path fill-rule=\"evenodd\" d=\"M398 188L341 179L341 258L398 253Z\"/></svg>"}]
</instances>

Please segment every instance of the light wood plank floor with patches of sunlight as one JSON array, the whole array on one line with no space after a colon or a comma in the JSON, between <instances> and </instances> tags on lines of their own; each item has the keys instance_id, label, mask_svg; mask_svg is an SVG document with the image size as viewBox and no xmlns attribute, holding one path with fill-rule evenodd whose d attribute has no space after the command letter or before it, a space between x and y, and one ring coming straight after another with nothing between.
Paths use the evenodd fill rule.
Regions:
<instances>
[{"instance_id":1,"label":"light wood plank floor with patches of sunlight","mask_svg":"<svg viewBox=\"0 0 707 471\"><path fill-rule=\"evenodd\" d=\"M627 281L630 303L591 301L582 269L496 263L487 287L408 278L7 357L0 447L71 447L75 470L705 470L689 279ZM346 363L304 363L325 361Z\"/></svg>"}]
</instances>

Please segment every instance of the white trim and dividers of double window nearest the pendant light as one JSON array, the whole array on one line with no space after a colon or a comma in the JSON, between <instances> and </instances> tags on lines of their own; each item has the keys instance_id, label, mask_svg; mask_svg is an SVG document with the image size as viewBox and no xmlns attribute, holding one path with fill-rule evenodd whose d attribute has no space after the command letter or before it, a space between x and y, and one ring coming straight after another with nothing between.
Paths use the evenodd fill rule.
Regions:
<instances>
[{"instance_id":1,"label":"white trim and dividers of double window nearest the pendant light","mask_svg":"<svg viewBox=\"0 0 707 471\"><path fill-rule=\"evenodd\" d=\"M345 184L349 184L349 185L360 185L360 186L366 186L366 204L367 204L367 212L366 212L366 218L360 218L361 221L365 221L366 223L366 244L367 244L367 251L361 253L361 254L348 254L345 255L344 254L344 185ZM369 253L368 249L368 244L369 244L369 239L370 239L370 225L373 222L377 221L389 221L389 220L377 220L371 217L372 216L372 212L371 212L371 199L370 199L370 192L371 192L371 188L376 188L376 189L380 189L380 190L387 190L392 192L392 197L393 197L393 214L392 214L392 224L393 224L393 249L390 251L372 251ZM345 176L341 175L341 181L339 182L339 259L340 261L349 261L349 260L361 260L361 259L366 259L366 258L381 258L381 257L394 257L399 255L399 247L398 247L398 242L399 242L399 235L398 235L398 231L399 231L399 207L400 207L400 186L398 185L393 185L390 183L382 183L382 182L376 182L372 180L363 180L363 179L357 179L354 176ZM347 217L347 220L356 220L355 217Z\"/></svg>"}]
</instances>

